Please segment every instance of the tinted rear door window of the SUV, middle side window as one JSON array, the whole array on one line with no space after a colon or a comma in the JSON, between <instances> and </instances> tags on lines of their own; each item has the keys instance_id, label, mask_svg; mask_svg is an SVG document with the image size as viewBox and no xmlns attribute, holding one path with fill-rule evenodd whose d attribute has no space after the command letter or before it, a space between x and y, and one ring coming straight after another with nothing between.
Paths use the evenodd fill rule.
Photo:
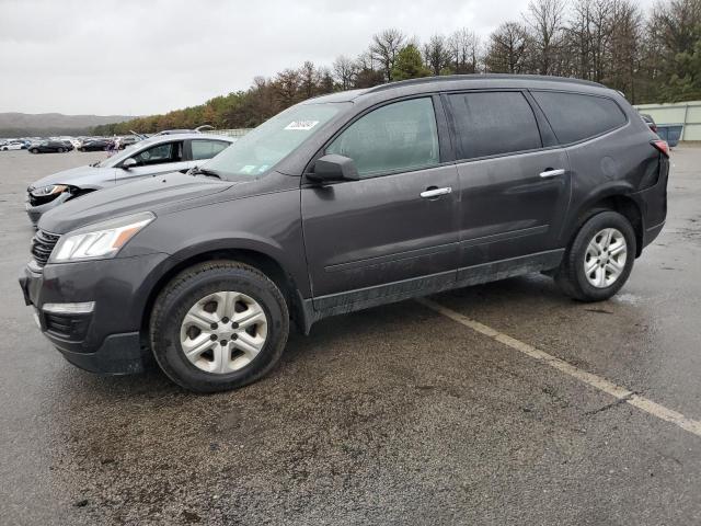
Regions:
<instances>
[{"instance_id":1,"label":"tinted rear door window of the SUV, middle side window","mask_svg":"<svg viewBox=\"0 0 701 526\"><path fill-rule=\"evenodd\" d=\"M542 147L536 116L518 91L448 95L458 159L514 153Z\"/></svg>"}]
</instances>

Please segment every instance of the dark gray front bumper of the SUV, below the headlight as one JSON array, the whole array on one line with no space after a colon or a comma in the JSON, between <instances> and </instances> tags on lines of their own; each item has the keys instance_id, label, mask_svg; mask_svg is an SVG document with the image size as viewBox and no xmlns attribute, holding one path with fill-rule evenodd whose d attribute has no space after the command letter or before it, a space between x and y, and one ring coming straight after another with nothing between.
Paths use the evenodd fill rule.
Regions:
<instances>
[{"instance_id":1,"label":"dark gray front bumper of the SUV, below the headlight","mask_svg":"<svg viewBox=\"0 0 701 526\"><path fill-rule=\"evenodd\" d=\"M20 272L20 286L34 308L42 333L71 364L92 373L143 370L148 354L140 332L150 291L166 254L76 263L33 264ZM90 313L45 312L45 304L94 301Z\"/></svg>"}]
</instances>

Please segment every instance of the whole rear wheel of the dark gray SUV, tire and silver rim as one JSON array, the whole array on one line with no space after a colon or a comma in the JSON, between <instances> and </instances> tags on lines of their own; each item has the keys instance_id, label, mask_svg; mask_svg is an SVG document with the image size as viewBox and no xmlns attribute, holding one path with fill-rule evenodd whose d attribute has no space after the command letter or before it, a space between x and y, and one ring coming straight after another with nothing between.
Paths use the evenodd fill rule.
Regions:
<instances>
[{"instance_id":1,"label":"whole rear wheel of the dark gray SUV, tire and silver rim","mask_svg":"<svg viewBox=\"0 0 701 526\"><path fill-rule=\"evenodd\" d=\"M635 260L635 232L616 211L590 217L576 233L555 274L555 283L579 301L610 298L625 284Z\"/></svg>"}]
</instances>

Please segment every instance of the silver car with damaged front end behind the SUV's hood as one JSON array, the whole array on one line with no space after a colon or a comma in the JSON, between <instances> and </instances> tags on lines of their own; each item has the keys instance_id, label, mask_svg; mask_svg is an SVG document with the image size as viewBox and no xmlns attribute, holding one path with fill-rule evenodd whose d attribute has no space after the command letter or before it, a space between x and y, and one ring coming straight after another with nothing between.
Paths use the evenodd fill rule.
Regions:
<instances>
[{"instance_id":1,"label":"silver car with damaged front end behind the SUV's hood","mask_svg":"<svg viewBox=\"0 0 701 526\"><path fill-rule=\"evenodd\" d=\"M36 225L44 213L69 199L152 175L187 172L234 141L232 137L199 133L141 140L104 161L35 181L27 187L26 213Z\"/></svg>"}]
</instances>

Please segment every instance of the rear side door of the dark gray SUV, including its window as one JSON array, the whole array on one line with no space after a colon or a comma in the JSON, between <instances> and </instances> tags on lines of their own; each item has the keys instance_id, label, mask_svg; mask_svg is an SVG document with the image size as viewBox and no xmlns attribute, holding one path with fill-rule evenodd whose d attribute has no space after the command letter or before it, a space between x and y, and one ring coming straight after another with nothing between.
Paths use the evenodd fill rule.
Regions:
<instances>
[{"instance_id":1,"label":"rear side door of the dark gray SUV, including its window","mask_svg":"<svg viewBox=\"0 0 701 526\"><path fill-rule=\"evenodd\" d=\"M475 265L518 267L524 256L558 248L570 164L530 95L472 91L444 101L460 180L458 279L482 272Z\"/></svg>"}]
</instances>

